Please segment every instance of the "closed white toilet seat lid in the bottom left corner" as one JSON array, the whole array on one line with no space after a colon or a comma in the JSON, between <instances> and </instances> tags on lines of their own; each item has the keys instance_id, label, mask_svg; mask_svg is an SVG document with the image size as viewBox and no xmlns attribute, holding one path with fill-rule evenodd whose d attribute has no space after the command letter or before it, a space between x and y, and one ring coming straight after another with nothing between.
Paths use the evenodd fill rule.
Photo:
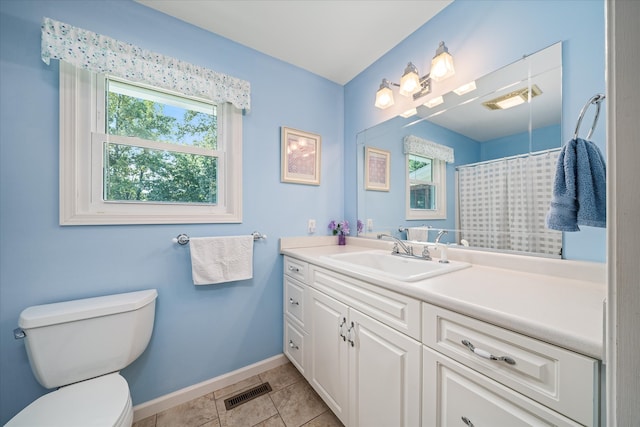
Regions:
<instances>
[{"instance_id":1,"label":"closed white toilet seat lid in the bottom left corner","mask_svg":"<svg viewBox=\"0 0 640 427\"><path fill-rule=\"evenodd\" d=\"M45 394L6 427L130 427L133 407L127 381L112 373Z\"/></svg>"}]
</instances>

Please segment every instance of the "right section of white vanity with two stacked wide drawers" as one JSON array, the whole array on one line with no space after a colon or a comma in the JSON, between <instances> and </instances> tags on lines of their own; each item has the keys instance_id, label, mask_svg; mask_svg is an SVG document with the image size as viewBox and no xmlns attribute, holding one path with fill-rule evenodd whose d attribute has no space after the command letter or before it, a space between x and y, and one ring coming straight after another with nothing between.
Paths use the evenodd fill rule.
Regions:
<instances>
[{"instance_id":1,"label":"right section of white vanity with two stacked wide drawers","mask_svg":"<svg viewBox=\"0 0 640 427\"><path fill-rule=\"evenodd\" d=\"M599 361L423 303L423 427L597 426Z\"/></svg>"}]
</instances>

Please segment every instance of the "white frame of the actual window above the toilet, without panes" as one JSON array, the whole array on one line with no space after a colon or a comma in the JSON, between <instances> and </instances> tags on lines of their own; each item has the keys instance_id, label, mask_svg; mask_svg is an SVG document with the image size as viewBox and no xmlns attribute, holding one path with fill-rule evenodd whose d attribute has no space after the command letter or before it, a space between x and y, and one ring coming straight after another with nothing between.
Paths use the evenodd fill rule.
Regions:
<instances>
[{"instance_id":1,"label":"white frame of the actual window above the toilet, without panes","mask_svg":"<svg viewBox=\"0 0 640 427\"><path fill-rule=\"evenodd\" d=\"M102 141L119 138L104 135L104 80L60 61L60 225L242 222L242 111L229 103L217 108L215 205L103 200Z\"/></svg>"}]
</instances>

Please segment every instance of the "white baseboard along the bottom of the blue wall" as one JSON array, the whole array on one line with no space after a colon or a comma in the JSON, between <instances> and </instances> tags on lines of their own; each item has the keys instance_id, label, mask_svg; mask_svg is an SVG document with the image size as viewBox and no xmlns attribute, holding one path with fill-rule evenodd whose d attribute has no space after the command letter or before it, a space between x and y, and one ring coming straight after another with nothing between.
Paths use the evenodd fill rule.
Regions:
<instances>
[{"instance_id":1,"label":"white baseboard along the bottom of the blue wall","mask_svg":"<svg viewBox=\"0 0 640 427\"><path fill-rule=\"evenodd\" d=\"M211 378L210 380L206 380L201 383L185 387L181 390L174 391L173 393L165 394L164 396L160 396L148 402L141 403L133 407L133 421L140 421L153 414L157 414L158 412L162 412L176 405L204 396L207 393L235 384L238 381L246 380L249 377L268 371L269 369L276 368L280 365L284 365L288 362L289 359L287 359L284 354L278 354L252 365L245 366L244 368L228 372L218 377Z\"/></svg>"}]
</instances>

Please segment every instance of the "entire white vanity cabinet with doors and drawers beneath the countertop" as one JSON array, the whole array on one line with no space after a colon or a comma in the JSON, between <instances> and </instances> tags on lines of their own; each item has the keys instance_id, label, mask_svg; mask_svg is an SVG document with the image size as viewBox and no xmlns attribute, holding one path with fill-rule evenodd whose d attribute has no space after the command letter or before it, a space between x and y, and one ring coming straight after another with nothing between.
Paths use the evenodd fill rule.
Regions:
<instances>
[{"instance_id":1,"label":"entire white vanity cabinet with doors and drawers beneath the countertop","mask_svg":"<svg viewBox=\"0 0 640 427\"><path fill-rule=\"evenodd\" d=\"M500 327L463 308L432 305L426 302L432 295L446 294L435 290L436 281L415 284L429 293L405 286L408 296L393 284L379 286L313 262L327 252L310 249L309 263L285 256L284 353L345 426L601 425L596 358L562 348L557 339L551 344L505 329L504 316ZM495 277L486 286L494 288L496 281L509 285L502 274L514 275L488 274ZM466 301L473 306L475 300ZM553 309L562 327L558 305ZM512 316L535 321L517 311ZM579 321L567 319L571 326ZM537 336L545 336L545 328L537 327Z\"/></svg>"}]
</instances>

